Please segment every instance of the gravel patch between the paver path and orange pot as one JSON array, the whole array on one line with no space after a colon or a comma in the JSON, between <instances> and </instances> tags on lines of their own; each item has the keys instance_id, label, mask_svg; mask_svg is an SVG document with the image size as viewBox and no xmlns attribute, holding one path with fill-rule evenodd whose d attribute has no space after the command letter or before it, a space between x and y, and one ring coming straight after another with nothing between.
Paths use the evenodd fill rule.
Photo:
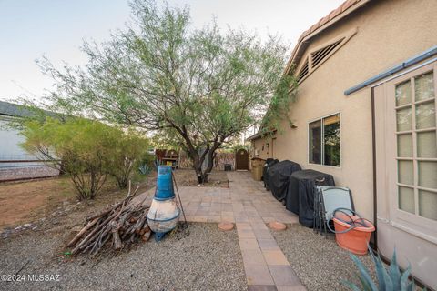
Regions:
<instances>
[{"instance_id":1,"label":"gravel patch between the paver path and orange pot","mask_svg":"<svg viewBox=\"0 0 437 291\"><path fill-rule=\"evenodd\" d=\"M324 238L312 229L299 224L288 225L287 230L272 232L279 247L308 290L350 290L341 280L359 282L357 268L349 252L340 248L334 237ZM371 272L371 256L359 256Z\"/></svg>"}]
</instances>

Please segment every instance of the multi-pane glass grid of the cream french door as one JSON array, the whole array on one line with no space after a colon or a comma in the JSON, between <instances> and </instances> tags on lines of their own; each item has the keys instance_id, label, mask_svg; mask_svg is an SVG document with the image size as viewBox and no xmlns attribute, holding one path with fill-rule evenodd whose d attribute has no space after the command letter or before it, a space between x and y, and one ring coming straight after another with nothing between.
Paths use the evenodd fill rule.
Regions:
<instances>
[{"instance_id":1,"label":"multi-pane glass grid of the cream french door","mask_svg":"<svg viewBox=\"0 0 437 291\"><path fill-rule=\"evenodd\" d=\"M394 85L398 209L437 220L434 70Z\"/></svg>"}]
</instances>

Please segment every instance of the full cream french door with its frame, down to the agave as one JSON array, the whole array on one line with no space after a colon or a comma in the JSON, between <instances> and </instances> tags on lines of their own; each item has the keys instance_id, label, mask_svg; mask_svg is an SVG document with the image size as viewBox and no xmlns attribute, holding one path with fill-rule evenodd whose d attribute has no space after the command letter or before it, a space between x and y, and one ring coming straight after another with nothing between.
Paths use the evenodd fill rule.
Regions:
<instances>
[{"instance_id":1,"label":"full cream french door with its frame, down to the agave","mask_svg":"<svg viewBox=\"0 0 437 291\"><path fill-rule=\"evenodd\" d=\"M382 256L437 286L437 63L373 87L377 239Z\"/></svg>"}]
</instances>

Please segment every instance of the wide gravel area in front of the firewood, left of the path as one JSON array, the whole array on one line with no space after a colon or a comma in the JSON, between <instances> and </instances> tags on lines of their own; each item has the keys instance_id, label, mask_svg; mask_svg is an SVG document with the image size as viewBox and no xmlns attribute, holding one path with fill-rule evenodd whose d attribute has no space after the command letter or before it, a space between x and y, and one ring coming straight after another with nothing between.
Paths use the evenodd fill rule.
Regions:
<instances>
[{"instance_id":1,"label":"wide gravel area in front of the firewood, left of the path","mask_svg":"<svg viewBox=\"0 0 437 291\"><path fill-rule=\"evenodd\" d=\"M67 231L0 241L0 273L59 275L60 282L0 282L0 290L246 290L235 230L190 224L190 235L151 239L117 255L63 256Z\"/></svg>"}]
</instances>

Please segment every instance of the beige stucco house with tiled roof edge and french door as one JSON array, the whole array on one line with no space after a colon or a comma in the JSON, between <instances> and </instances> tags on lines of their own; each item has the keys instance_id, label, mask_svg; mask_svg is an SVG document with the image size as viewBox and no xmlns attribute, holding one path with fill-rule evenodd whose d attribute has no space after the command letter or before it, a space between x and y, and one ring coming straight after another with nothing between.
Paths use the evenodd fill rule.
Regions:
<instances>
[{"instance_id":1,"label":"beige stucco house with tiled roof edge and french door","mask_svg":"<svg viewBox=\"0 0 437 291\"><path fill-rule=\"evenodd\" d=\"M382 256L437 289L437 1L348 0L305 31L286 68L290 119L251 156L290 159L351 188ZM295 70L291 70L292 67Z\"/></svg>"}]
</instances>

